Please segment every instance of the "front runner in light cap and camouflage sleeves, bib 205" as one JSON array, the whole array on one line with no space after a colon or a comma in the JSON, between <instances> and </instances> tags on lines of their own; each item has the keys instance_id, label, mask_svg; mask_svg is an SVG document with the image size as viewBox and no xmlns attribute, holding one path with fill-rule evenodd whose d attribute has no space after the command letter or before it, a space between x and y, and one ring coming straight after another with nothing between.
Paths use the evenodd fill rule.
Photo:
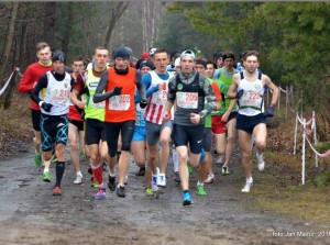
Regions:
<instances>
[{"instance_id":1,"label":"front runner in light cap and camouflage sleeves, bib 205","mask_svg":"<svg viewBox=\"0 0 330 245\"><path fill-rule=\"evenodd\" d=\"M189 162L194 167L197 167L202 148L204 120L208 113L216 109L216 97L207 78L194 69L194 52L185 51L180 58L182 73L178 73L168 83L163 122L166 123L170 119L170 109L175 102L173 134L179 158L179 176L184 191L183 205L190 205L193 198L189 192L187 145L190 146Z\"/></svg>"}]
</instances>

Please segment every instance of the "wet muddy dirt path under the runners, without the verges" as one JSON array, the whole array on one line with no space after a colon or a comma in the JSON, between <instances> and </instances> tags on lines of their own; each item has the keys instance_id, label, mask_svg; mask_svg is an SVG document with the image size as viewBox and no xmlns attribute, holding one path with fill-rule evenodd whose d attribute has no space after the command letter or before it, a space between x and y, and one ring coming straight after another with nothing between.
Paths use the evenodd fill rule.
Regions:
<instances>
[{"instance_id":1,"label":"wet muddy dirt path under the runners, without the verges","mask_svg":"<svg viewBox=\"0 0 330 245\"><path fill-rule=\"evenodd\" d=\"M94 200L90 176L85 174L85 183L75 186L69 162L63 196L53 197L54 166L53 182L43 182L29 149L0 160L0 244L330 244L329 225L253 207L251 196L240 192L244 177L238 158L235 163L227 177L216 167L218 178L206 187L207 197L196 196L194 174L195 203L184 208L180 187L172 179L160 199L146 198L144 178L134 175L133 164L125 199L108 189L106 200Z\"/></svg>"}]
</instances>

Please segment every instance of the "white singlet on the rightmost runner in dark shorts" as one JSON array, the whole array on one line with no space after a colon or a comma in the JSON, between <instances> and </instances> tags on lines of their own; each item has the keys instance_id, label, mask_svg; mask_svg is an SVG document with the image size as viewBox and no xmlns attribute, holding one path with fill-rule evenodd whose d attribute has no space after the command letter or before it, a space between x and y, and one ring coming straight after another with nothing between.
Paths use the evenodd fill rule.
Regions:
<instances>
[{"instance_id":1,"label":"white singlet on the rightmost runner in dark shorts","mask_svg":"<svg viewBox=\"0 0 330 245\"><path fill-rule=\"evenodd\" d=\"M240 73L240 85L238 91L243 89L244 93L239 100L239 113L243 115L257 115L264 112L264 86L262 74L257 73L254 81L246 80L244 73Z\"/></svg>"}]
</instances>

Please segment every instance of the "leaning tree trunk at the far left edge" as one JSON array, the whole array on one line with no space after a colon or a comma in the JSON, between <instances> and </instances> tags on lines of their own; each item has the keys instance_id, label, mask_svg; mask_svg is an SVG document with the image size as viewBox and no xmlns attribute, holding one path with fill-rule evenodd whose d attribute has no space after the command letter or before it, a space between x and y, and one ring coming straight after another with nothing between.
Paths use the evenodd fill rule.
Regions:
<instances>
[{"instance_id":1,"label":"leaning tree trunk at the far left edge","mask_svg":"<svg viewBox=\"0 0 330 245\"><path fill-rule=\"evenodd\" d=\"M1 88L6 83L6 76L8 76L8 70L12 70L12 67L9 64L9 55L11 53L11 47L12 43L14 40L14 31L15 31L15 20L18 15L18 10L19 10L19 2L12 2L12 9L11 9L11 18L9 21L9 26L7 31L7 38L3 45L3 51L2 51L2 57L0 59L0 86ZM9 86L10 87L10 86ZM0 107L2 102L0 101Z\"/></svg>"}]
</instances>

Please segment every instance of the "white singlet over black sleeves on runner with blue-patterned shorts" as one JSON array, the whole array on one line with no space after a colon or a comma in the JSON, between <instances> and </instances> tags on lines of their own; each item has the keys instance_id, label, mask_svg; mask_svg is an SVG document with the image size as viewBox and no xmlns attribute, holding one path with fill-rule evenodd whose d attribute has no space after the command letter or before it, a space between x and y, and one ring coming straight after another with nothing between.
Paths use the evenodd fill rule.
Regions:
<instances>
[{"instance_id":1,"label":"white singlet over black sleeves on runner with blue-patterned shorts","mask_svg":"<svg viewBox=\"0 0 330 245\"><path fill-rule=\"evenodd\" d=\"M51 71L46 73L48 85L45 92L44 101L53 104L51 112L41 109L43 114L47 115L66 115L69 110L69 97L72 91L72 76L66 73L65 78L58 81Z\"/></svg>"}]
</instances>

